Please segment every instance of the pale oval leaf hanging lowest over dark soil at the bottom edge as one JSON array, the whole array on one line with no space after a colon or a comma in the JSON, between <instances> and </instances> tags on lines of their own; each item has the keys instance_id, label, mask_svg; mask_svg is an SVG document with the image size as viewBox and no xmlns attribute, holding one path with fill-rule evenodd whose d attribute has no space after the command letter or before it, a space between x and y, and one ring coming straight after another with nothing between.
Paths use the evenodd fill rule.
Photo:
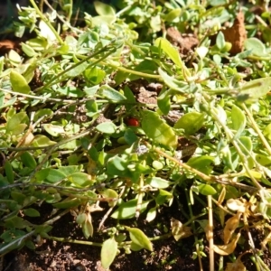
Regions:
<instances>
[{"instance_id":1,"label":"pale oval leaf hanging lowest over dark soil at the bottom edge","mask_svg":"<svg viewBox=\"0 0 271 271\"><path fill-rule=\"evenodd\" d=\"M102 266L107 269L117 256L117 242L114 238L109 238L103 242L100 258Z\"/></svg>"}]
</instances>

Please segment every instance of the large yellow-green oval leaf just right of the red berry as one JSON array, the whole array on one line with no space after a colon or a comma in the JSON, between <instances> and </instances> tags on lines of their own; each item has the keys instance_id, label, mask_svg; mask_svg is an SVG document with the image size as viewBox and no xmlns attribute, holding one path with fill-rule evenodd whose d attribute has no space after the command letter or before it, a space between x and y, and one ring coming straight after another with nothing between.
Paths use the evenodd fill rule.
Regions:
<instances>
[{"instance_id":1,"label":"large yellow-green oval leaf just right of the red berry","mask_svg":"<svg viewBox=\"0 0 271 271\"><path fill-rule=\"evenodd\" d=\"M178 136L175 135L173 128L168 126L157 113L144 111L142 119L142 128L145 134L155 143L176 148Z\"/></svg>"}]
</instances>

